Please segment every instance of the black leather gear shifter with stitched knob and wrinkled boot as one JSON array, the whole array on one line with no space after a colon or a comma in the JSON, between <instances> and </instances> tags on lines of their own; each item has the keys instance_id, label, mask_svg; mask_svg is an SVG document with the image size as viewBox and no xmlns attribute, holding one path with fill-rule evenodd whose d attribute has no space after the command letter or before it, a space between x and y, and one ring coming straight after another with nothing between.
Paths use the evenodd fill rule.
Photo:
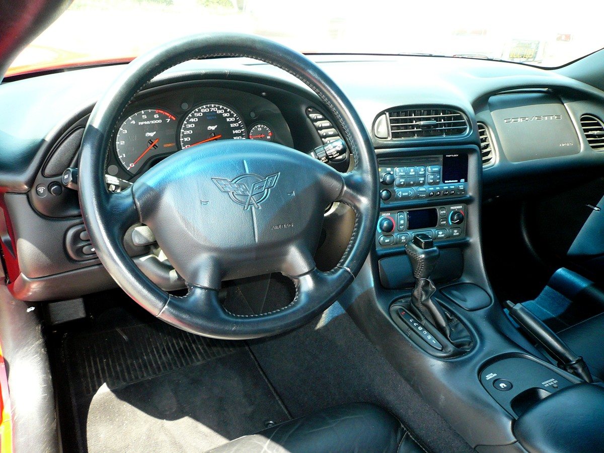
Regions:
<instances>
[{"instance_id":1,"label":"black leather gear shifter with stitched knob and wrinkled boot","mask_svg":"<svg viewBox=\"0 0 604 453\"><path fill-rule=\"evenodd\" d=\"M405 250L411 261L413 276L416 278L415 288L411 294L411 306L422 323L427 319L440 333L449 338L451 329L447 316L440 305L432 300L436 288L430 280L430 275L439 260L439 249L436 248L431 237L420 233L413 237L413 241L406 245Z\"/></svg>"}]
</instances>

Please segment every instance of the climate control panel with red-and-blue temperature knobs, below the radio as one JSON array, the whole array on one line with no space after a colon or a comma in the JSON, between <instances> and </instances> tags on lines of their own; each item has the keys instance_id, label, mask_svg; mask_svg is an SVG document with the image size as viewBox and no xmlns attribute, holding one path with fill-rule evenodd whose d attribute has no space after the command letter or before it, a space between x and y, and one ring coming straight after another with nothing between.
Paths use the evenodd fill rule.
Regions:
<instances>
[{"instance_id":1,"label":"climate control panel with red-and-blue temperature knobs, below the radio","mask_svg":"<svg viewBox=\"0 0 604 453\"><path fill-rule=\"evenodd\" d=\"M384 211L377 219L376 248L404 248L413 236L428 234L435 242L466 237L465 204Z\"/></svg>"}]
</instances>

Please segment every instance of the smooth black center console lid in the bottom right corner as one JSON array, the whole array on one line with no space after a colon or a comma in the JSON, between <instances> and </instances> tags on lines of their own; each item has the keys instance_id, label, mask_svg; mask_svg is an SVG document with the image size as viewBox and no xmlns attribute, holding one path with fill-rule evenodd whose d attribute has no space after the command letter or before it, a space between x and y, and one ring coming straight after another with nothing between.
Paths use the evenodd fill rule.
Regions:
<instances>
[{"instance_id":1,"label":"smooth black center console lid in the bottom right corner","mask_svg":"<svg viewBox=\"0 0 604 453\"><path fill-rule=\"evenodd\" d=\"M604 451L604 388L563 388L522 414L513 431L529 452Z\"/></svg>"}]
</instances>

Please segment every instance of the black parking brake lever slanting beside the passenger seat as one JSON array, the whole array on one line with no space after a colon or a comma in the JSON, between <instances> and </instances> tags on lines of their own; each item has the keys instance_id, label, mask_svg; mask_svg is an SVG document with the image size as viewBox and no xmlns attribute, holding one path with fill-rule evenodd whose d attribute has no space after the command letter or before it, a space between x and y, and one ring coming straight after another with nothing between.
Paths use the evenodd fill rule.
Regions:
<instances>
[{"instance_id":1,"label":"black parking brake lever slanting beside the passenger seat","mask_svg":"<svg viewBox=\"0 0 604 453\"><path fill-rule=\"evenodd\" d=\"M504 306L509 310L510 316L516 323L533 336L554 359L562 364L565 370L580 377L585 382L593 382L590 369L583 358L577 356L543 321L533 315L522 304L514 304L508 300L504 303Z\"/></svg>"}]
</instances>

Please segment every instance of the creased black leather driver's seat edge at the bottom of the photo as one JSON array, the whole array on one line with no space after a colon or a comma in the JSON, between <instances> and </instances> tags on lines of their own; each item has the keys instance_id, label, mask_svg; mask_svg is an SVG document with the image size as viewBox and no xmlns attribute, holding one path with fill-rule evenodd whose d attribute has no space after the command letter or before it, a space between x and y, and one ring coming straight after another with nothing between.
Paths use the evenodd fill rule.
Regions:
<instances>
[{"instance_id":1,"label":"creased black leather driver's seat edge at the bottom of the photo","mask_svg":"<svg viewBox=\"0 0 604 453\"><path fill-rule=\"evenodd\" d=\"M423 452L399 420L379 406L335 406L225 443L213 453Z\"/></svg>"}]
</instances>

